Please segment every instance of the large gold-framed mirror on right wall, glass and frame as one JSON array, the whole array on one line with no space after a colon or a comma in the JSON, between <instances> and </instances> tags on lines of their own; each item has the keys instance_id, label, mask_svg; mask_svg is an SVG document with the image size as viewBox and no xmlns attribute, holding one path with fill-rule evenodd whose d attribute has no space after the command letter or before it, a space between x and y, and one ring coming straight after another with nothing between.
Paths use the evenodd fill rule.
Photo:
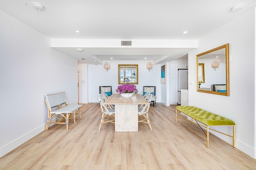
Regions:
<instances>
[{"instance_id":1,"label":"large gold-framed mirror on right wall, glass and frame","mask_svg":"<svg viewBox=\"0 0 256 170\"><path fill-rule=\"evenodd\" d=\"M198 92L229 96L228 45L225 44L196 55ZM200 70L202 66L204 75ZM201 75L204 81L202 81Z\"/></svg>"}]
</instances>

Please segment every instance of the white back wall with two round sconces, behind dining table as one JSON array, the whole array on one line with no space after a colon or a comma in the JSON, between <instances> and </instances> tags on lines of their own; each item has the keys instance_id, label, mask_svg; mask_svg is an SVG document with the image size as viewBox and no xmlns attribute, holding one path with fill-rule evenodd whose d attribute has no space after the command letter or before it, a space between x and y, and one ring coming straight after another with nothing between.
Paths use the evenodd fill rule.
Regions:
<instances>
[{"instance_id":1,"label":"white back wall with two round sconces, behind dining table","mask_svg":"<svg viewBox=\"0 0 256 170\"><path fill-rule=\"evenodd\" d=\"M161 99L161 68L159 64L153 65L150 72L146 69L149 61L103 61L111 65L110 70L105 70L103 65L88 64L88 101L98 102L99 86L112 86L112 94L117 94L118 64L138 64L138 94L143 94L143 86L156 86L156 102ZM151 61L153 63L153 61Z\"/></svg>"}]
</instances>

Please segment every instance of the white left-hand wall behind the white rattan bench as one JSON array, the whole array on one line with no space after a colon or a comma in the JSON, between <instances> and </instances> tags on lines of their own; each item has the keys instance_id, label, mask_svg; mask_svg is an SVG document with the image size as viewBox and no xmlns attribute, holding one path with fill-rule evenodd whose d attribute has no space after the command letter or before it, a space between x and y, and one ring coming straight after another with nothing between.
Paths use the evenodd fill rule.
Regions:
<instances>
[{"instance_id":1,"label":"white left-hand wall behind the white rattan bench","mask_svg":"<svg viewBox=\"0 0 256 170\"><path fill-rule=\"evenodd\" d=\"M0 157L44 131L44 94L63 90L78 103L77 60L50 43L0 10Z\"/></svg>"}]
</instances>

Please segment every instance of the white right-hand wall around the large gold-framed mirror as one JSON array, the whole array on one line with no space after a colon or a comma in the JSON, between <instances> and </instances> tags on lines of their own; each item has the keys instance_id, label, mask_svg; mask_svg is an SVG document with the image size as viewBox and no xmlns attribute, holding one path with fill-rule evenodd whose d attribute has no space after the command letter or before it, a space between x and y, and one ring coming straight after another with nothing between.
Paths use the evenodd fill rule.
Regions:
<instances>
[{"instance_id":1,"label":"white right-hand wall around the large gold-framed mirror","mask_svg":"<svg viewBox=\"0 0 256 170\"><path fill-rule=\"evenodd\" d=\"M196 92L196 55L229 43L230 96ZM232 57L231 57L232 56ZM188 54L189 85L188 104L217 113L236 123L236 148L256 158L255 155L255 9L226 23L198 41L198 49ZM232 134L232 128L223 127ZM230 137L219 135L228 143ZM230 146L232 147L232 146Z\"/></svg>"}]
</instances>

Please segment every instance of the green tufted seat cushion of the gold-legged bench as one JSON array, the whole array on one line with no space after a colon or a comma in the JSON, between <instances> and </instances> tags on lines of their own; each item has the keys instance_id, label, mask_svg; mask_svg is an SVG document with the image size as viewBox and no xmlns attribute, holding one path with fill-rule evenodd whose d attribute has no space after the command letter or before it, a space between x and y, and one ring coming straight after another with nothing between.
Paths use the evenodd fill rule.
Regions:
<instances>
[{"instance_id":1,"label":"green tufted seat cushion of the gold-legged bench","mask_svg":"<svg viewBox=\"0 0 256 170\"><path fill-rule=\"evenodd\" d=\"M234 121L194 106L177 106L177 110L204 123L205 125L236 125Z\"/></svg>"}]
</instances>

